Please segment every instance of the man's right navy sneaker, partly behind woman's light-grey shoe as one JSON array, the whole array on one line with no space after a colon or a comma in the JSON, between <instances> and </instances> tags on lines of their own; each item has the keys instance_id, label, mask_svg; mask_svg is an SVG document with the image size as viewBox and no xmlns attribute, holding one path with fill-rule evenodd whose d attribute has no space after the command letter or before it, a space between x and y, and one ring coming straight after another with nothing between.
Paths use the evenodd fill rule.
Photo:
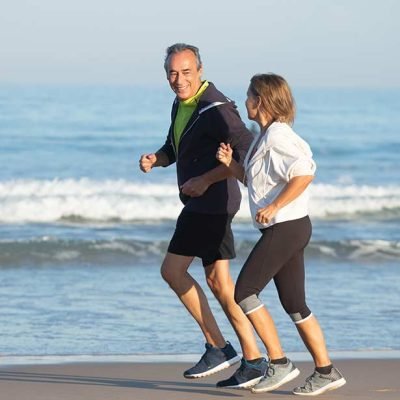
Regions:
<instances>
[{"instance_id":1,"label":"man's right navy sneaker, partly behind woman's light-grey shoe","mask_svg":"<svg viewBox=\"0 0 400 400\"><path fill-rule=\"evenodd\" d=\"M248 389L260 382L268 368L268 362L262 358L258 364L251 364L242 358L240 367L228 379L217 382L217 387Z\"/></svg>"}]
</instances>

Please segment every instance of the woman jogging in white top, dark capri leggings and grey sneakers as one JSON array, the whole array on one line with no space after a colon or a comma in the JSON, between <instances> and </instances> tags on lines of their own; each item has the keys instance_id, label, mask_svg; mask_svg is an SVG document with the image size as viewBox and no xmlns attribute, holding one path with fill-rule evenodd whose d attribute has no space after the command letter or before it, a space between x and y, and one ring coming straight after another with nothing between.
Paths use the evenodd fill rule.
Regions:
<instances>
[{"instance_id":1,"label":"woman jogging in white top, dark capri leggings and grey sneakers","mask_svg":"<svg viewBox=\"0 0 400 400\"><path fill-rule=\"evenodd\" d=\"M310 147L291 128L295 104L282 77L253 76L246 108L248 118L260 126L260 133L244 165L232 159L229 144L221 143L217 159L247 185L252 219L261 231L261 238L246 260L235 288L235 300L253 324L270 359L265 377L251 390L268 392L299 374L285 356L274 321L258 297L273 279L282 306L315 363L314 373L293 393L315 396L346 383L333 367L320 325L305 301L304 248L311 236L308 186L316 166Z\"/></svg>"}]
</instances>

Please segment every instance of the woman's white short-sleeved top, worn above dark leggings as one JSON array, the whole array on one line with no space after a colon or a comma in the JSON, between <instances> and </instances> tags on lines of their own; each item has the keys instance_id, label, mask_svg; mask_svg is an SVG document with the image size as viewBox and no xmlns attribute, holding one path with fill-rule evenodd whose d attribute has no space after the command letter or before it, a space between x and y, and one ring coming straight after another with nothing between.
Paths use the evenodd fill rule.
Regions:
<instances>
[{"instance_id":1,"label":"woman's white short-sleeved top, worn above dark leggings","mask_svg":"<svg viewBox=\"0 0 400 400\"><path fill-rule=\"evenodd\" d=\"M260 132L254 138L244 169L250 212L256 228L308 215L309 189L306 188L270 222L260 224L255 219L257 211L271 204L293 177L315 174L316 164L310 146L288 124L274 122L265 133Z\"/></svg>"}]
</instances>

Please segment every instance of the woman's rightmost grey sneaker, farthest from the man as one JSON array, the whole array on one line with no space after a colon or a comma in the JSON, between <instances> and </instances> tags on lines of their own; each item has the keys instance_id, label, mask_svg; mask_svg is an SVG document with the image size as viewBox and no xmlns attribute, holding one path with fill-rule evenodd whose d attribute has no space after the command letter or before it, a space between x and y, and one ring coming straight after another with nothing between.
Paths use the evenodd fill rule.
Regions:
<instances>
[{"instance_id":1,"label":"woman's rightmost grey sneaker, farthest from the man","mask_svg":"<svg viewBox=\"0 0 400 400\"><path fill-rule=\"evenodd\" d=\"M320 374L317 371L306 379L304 386L293 389L293 393L300 396L317 396L321 393L340 388L346 383L346 379L336 369L332 368L329 374Z\"/></svg>"}]
</instances>

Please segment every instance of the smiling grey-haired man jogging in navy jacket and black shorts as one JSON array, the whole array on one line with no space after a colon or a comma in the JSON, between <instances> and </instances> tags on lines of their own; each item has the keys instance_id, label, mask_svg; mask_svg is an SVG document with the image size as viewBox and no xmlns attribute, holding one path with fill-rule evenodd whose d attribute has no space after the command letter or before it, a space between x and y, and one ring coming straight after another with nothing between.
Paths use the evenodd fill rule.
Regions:
<instances>
[{"instance_id":1,"label":"smiling grey-haired man jogging in navy jacket and black shorts","mask_svg":"<svg viewBox=\"0 0 400 400\"><path fill-rule=\"evenodd\" d=\"M176 94L167 140L156 153L140 158L140 169L176 162L179 195L184 208L161 266L161 275L196 320L206 340L200 361L184 372L186 378L211 375L237 363L240 357L226 342L200 285L188 273L194 259L202 260L208 286L221 304L239 338L243 359L234 375L219 387L251 387L263 377L261 357L248 319L234 301L229 259L235 257L231 221L240 206L240 189L229 170L216 160L221 142L230 143L242 162L252 137L233 102L208 81L195 46L177 43L167 49L164 68Z\"/></svg>"}]
</instances>

